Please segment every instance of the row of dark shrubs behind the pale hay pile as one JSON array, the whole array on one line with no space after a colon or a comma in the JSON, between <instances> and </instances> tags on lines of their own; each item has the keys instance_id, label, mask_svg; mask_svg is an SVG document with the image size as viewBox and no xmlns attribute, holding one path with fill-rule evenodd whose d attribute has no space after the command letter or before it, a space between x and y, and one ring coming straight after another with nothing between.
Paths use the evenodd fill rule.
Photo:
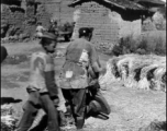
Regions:
<instances>
[{"instance_id":1,"label":"row of dark shrubs behind the pale hay pile","mask_svg":"<svg viewBox=\"0 0 167 131\"><path fill-rule=\"evenodd\" d=\"M163 37L148 36L135 38L133 35L121 38L119 45L115 45L110 55L120 56L125 53L138 55L166 55L166 44Z\"/></svg>"}]
</instances>

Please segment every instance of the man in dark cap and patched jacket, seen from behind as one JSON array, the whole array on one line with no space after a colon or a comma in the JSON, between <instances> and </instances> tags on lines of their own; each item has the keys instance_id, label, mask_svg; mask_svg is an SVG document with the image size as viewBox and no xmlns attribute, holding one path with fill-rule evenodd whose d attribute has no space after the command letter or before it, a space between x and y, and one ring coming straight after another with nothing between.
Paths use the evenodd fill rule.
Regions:
<instances>
[{"instance_id":1,"label":"man in dark cap and patched jacket, seen from behind","mask_svg":"<svg viewBox=\"0 0 167 131\"><path fill-rule=\"evenodd\" d=\"M101 106L97 100L88 99L90 82L88 74L98 76L102 71L96 48L90 43L92 28L80 28L79 38L69 44L66 61L59 75L59 86L69 102L77 129L82 129L88 114L98 114ZM91 68L89 68L91 67ZM89 71L89 70L90 71ZM108 111L110 114L110 109Z\"/></svg>"}]
</instances>

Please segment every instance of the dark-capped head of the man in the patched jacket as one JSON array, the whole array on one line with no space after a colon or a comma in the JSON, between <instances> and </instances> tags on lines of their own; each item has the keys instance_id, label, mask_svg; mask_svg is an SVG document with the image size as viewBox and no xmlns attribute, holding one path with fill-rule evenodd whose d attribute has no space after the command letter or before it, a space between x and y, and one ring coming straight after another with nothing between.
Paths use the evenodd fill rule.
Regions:
<instances>
[{"instance_id":1,"label":"dark-capped head of the man in the patched jacket","mask_svg":"<svg viewBox=\"0 0 167 131\"><path fill-rule=\"evenodd\" d=\"M93 32L92 27L81 27L79 29L79 38L84 37L87 40L90 40L92 37L92 32Z\"/></svg>"}]
</instances>

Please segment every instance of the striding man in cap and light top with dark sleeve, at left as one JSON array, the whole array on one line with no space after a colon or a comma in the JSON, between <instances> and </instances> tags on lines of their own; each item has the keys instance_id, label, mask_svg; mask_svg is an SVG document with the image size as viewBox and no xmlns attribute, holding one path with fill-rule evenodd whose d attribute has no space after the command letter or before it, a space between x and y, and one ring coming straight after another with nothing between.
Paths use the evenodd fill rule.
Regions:
<instances>
[{"instance_id":1,"label":"striding man in cap and light top with dark sleeve, at left","mask_svg":"<svg viewBox=\"0 0 167 131\"><path fill-rule=\"evenodd\" d=\"M48 131L60 131L55 108L59 99L52 57L57 45L56 39L56 36L51 33L43 34L41 39L43 51L34 52L31 57L30 84L26 88L29 99L23 107L24 112L16 131L27 131L41 108L47 114Z\"/></svg>"}]
</instances>

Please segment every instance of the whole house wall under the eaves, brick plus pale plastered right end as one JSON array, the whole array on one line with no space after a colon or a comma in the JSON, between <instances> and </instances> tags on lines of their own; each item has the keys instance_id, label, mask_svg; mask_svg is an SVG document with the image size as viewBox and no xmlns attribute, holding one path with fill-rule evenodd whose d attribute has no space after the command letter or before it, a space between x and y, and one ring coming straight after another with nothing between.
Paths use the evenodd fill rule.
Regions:
<instances>
[{"instance_id":1,"label":"whole house wall under the eaves, brick plus pale plastered right end","mask_svg":"<svg viewBox=\"0 0 167 131\"><path fill-rule=\"evenodd\" d=\"M74 12L74 21L76 26L73 34L73 39L78 37L80 27L93 27L92 44L98 49L108 52L113 46L119 44L120 38L129 35L141 35L142 22L124 21L115 11L105 8L97 2L85 2L76 7Z\"/></svg>"}]
</instances>

